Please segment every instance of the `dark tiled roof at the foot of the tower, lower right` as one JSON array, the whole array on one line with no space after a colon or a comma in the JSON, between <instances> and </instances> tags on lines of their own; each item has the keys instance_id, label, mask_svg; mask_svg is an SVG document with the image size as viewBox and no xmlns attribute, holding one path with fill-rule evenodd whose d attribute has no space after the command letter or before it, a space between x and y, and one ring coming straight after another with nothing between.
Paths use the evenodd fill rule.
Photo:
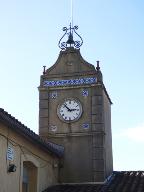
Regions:
<instances>
[{"instance_id":1,"label":"dark tiled roof at the foot of the tower, lower right","mask_svg":"<svg viewBox=\"0 0 144 192\"><path fill-rule=\"evenodd\" d=\"M144 171L114 171L101 185L57 185L43 192L144 192Z\"/></svg>"}]
</instances>

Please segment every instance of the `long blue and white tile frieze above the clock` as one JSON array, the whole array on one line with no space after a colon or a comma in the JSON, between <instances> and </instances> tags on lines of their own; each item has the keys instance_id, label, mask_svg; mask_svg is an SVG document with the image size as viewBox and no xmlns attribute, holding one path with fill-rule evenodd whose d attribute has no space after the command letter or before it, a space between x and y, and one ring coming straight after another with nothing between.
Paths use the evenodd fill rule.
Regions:
<instances>
[{"instance_id":1,"label":"long blue and white tile frieze above the clock","mask_svg":"<svg viewBox=\"0 0 144 192\"><path fill-rule=\"evenodd\" d=\"M86 77L79 79L64 79L64 80L45 80L43 82L44 87L57 87L57 86L70 86L70 85L85 85L94 84L97 82L96 77Z\"/></svg>"}]
</instances>

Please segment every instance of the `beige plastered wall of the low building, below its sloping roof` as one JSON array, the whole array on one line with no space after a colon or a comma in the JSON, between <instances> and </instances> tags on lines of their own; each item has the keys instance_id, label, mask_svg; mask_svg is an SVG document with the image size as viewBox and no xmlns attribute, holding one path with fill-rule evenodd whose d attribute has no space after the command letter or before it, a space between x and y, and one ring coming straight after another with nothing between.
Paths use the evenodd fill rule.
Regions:
<instances>
[{"instance_id":1,"label":"beige plastered wall of the low building, below its sloping roof","mask_svg":"<svg viewBox=\"0 0 144 192\"><path fill-rule=\"evenodd\" d=\"M14 160L10 162L6 158L7 147L10 145L14 149ZM23 163L30 162L37 170L37 192L41 192L50 185L54 185L58 180L57 168L54 164L58 159L44 152L38 145L35 145L10 128L0 123L0 191L1 192L21 192ZM7 168L9 163L16 165L16 172L9 173ZM32 173L32 172L31 172ZM35 177L35 175L34 175ZM31 181L33 182L33 181ZM33 189L34 190L34 189ZM35 190L34 190L35 191ZM32 191L31 191L32 192Z\"/></svg>"}]
</instances>

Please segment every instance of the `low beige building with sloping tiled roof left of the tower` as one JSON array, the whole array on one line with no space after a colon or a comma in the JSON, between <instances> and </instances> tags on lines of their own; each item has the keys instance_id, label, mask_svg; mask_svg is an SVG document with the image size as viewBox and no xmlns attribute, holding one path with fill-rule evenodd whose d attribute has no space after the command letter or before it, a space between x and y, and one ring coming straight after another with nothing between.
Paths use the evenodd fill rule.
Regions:
<instances>
[{"instance_id":1,"label":"low beige building with sloping tiled roof left of the tower","mask_svg":"<svg viewBox=\"0 0 144 192\"><path fill-rule=\"evenodd\" d=\"M0 191L41 192L58 183L63 147L47 142L0 109Z\"/></svg>"}]
</instances>

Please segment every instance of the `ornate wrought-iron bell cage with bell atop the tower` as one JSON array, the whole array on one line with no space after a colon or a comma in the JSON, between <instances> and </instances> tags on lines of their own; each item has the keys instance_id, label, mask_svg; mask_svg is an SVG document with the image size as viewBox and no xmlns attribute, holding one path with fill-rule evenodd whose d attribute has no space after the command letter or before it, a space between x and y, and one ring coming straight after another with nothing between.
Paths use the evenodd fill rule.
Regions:
<instances>
[{"instance_id":1,"label":"ornate wrought-iron bell cage with bell atop the tower","mask_svg":"<svg viewBox=\"0 0 144 192\"><path fill-rule=\"evenodd\" d=\"M63 27L63 31L65 31L64 35L62 36L62 38L59 40L58 46L60 49L65 50L67 47L74 47L76 49L79 49L82 44L83 44L83 40L81 38L81 36L76 32L76 30L78 29L78 26L71 26L70 23L70 27ZM67 41L63 41L62 39L68 35L68 40ZM74 36L77 36L79 38L78 40L74 40Z\"/></svg>"}]
</instances>

